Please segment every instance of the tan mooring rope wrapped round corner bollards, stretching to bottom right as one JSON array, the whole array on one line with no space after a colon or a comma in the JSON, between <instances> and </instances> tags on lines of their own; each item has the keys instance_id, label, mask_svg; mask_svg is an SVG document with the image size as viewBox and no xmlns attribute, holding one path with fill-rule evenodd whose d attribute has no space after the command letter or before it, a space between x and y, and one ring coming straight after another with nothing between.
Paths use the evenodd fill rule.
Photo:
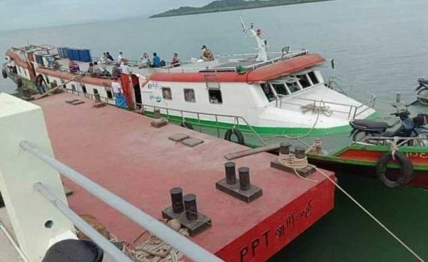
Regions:
<instances>
[{"instance_id":1,"label":"tan mooring rope wrapped round corner bollards, stretching to bottom right","mask_svg":"<svg viewBox=\"0 0 428 262\"><path fill-rule=\"evenodd\" d=\"M364 211L365 214L367 214L368 216L370 216L370 218L372 218L380 227L382 227L382 229L384 229L385 231L387 231L387 233L390 236L392 236L392 238L394 238L396 241L398 241L398 243L400 243L402 246L404 246L404 248L406 248L407 251L409 251L410 253L412 253L412 255L415 258L417 258L418 261L425 262L420 256L417 255L416 252L414 252L412 250L412 248L410 248L409 246L407 246L406 243L404 243L401 239L399 239L399 237L396 236L391 230L389 230L387 228L387 226L385 226L384 224L382 224L382 222L379 221L379 219L377 219L372 213L370 213L370 211L368 211L367 209L365 209L365 207L362 206L362 204L360 204L360 202L358 202L356 199L354 199L348 192L346 192L345 189L343 189L342 187L340 187L340 185L337 184L337 182L335 182L334 179L332 179L329 175L325 174L325 172L323 172L321 169L315 167L312 164L309 164L307 162L307 157L305 157L305 159L296 159L294 156L290 156L290 154L280 154L279 157L278 157L278 159L277 159L277 161L280 162L280 164L285 165L285 167L291 167L291 168L293 168L295 170L295 174L297 174L298 177L300 177L301 179L310 181L310 182L316 182L316 180L307 179L305 177L300 176L300 174L298 174L298 172L297 172L297 169L305 168L305 167L308 167L308 166L315 168L318 172L320 172L320 174L322 174L330 182L332 182L332 184L334 184L335 187L337 187L337 189L339 189L343 194L345 194L345 196L347 196L358 207L360 207L360 209L362 209L362 211Z\"/></svg>"}]
</instances>

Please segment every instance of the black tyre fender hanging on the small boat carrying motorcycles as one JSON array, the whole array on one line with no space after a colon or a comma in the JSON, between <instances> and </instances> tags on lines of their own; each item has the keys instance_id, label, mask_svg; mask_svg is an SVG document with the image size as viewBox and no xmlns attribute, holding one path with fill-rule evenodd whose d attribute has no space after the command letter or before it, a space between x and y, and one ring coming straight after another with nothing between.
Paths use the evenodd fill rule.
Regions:
<instances>
[{"instance_id":1,"label":"black tyre fender hanging on the small boat carrying motorcycles","mask_svg":"<svg viewBox=\"0 0 428 262\"><path fill-rule=\"evenodd\" d=\"M414 173L412 162L410 162L410 160L404 154L395 152L394 158L397 160L400 167L397 180L391 180L386 175L388 162L392 160L391 152L387 152L386 154L382 155L382 157L377 160L376 165L377 178L379 178L379 180L389 188L397 188L409 184L409 182L412 181Z\"/></svg>"}]
</instances>

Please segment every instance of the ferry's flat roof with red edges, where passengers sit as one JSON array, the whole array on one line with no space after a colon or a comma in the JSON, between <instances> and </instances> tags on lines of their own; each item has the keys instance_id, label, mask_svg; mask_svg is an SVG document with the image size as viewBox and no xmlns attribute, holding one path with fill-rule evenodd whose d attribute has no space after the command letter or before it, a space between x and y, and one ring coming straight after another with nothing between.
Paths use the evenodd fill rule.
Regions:
<instances>
[{"instance_id":1,"label":"ferry's flat roof with red edges, where passengers sit","mask_svg":"<svg viewBox=\"0 0 428 262\"><path fill-rule=\"evenodd\" d=\"M36 73L58 76L66 80L71 80L76 74L68 72L68 58L60 58L58 50L54 46L30 45L24 48L10 48L6 56L14 59L19 66L29 69L30 62L26 58L26 53L35 53L41 56L53 56L58 58L61 70L54 70L46 66L36 68ZM163 68L141 68L138 61L130 61L129 66L132 73L144 76L150 80L171 81L171 82L205 82L206 75L216 75L219 82L264 82L284 75L290 75L300 70L305 70L313 66L318 66L325 62L325 58L309 53L303 49L300 51L289 51L287 53L271 53L272 56L267 61L258 61L254 54L244 54L235 56L220 56L214 61L185 61L180 66L172 67L167 64ZM275 56L274 56L275 55ZM95 61L97 58L93 58ZM86 72L89 63L75 61L81 72ZM116 64L117 65L117 64ZM103 65L98 63L95 67L107 70L112 73L114 65ZM111 82L113 79L106 79L96 75L85 76L86 80L95 78L91 83ZM99 80L101 79L101 80ZM83 81L86 82L86 81Z\"/></svg>"}]
</instances>

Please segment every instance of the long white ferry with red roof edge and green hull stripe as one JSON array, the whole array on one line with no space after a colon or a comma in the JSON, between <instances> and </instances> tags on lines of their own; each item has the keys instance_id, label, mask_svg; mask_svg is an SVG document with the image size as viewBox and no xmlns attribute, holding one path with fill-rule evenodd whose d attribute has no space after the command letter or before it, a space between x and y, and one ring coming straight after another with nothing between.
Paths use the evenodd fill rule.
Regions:
<instances>
[{"instance_id":1,"label":"long white ferry with red roof edge and green hull stripe","mask_svg":"<svg viewBox=\"0 0 428 262\"><path fill-rule=\"evenodd\" d=\"M242 20L241 20L242 21ZM333 90L320 68L326 59L302 49L268 53L267 41L253 24L245 26L245 35L255 38L258 53L218 56L213 61L193 59L179 66L142 68L128 61L129 72L113 78L113 65L103 65L87 49L29 45L6 52L9 68L3 73L36 90L34 80L43 78L49 89L63 90L88 98L96 95L116 105L111 84L121 84L128 108L146 115L161 109L164 117L185 127L217 130L240 144L265 145L263 137L319 137L350 131L348 122L355 117L375 117L375 96L360 103L345 93ZM59 66L54 68L52 61ZM74 61L79 71L71 73ZM16 68L11 68L10 63ZM96 63L103 74L88 73ZM58 65L57 64L57 65ZM243 132L250 133L247 141ZM235 135L235 136L234 136Z\"/></svg>"}]
</instances>

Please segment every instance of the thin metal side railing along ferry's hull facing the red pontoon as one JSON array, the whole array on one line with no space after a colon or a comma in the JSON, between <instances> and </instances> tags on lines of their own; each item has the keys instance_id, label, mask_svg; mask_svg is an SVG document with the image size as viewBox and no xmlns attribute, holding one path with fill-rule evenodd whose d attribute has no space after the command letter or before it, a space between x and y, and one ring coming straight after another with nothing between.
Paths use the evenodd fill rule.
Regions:
<instances>
[{"instance_id":1,"label":"thin metal side railing along ferry's hull facing the red pontoon","mask_svg":"<svg viewBox=\"0 0 428 262\"><path fill-rule=\"evenodd\" d=\"M213 114L208 112L197 112L197 111L190 111L190 110L181 110L181 109L174 109L174 108L165 108L160 107L156 105L146 105L143 103L135 103L135 108L143 108L143 111L148 109L151 112L153 112L155 109L163 110L163 115L165 115L168 122L181 122L183 126L186 126L186 123L195 124L198 126L199 132L203 132L203 127L208 128L215 128L217 132L217 137L220 138L220 130L226 130L229 129L229 126L225 126L222 124L222 122L219 121L219 118L223 119L229 119L231 123L233 123L233 128L236 128L243 132L250 132L255 137L258 138L258 140L263 144L266 145L266 142L263 140L262 137L258 134L258 132L255 131L255 129L250 125L250 123L245 120L245 117L238 116L238 115L223 115L223 114ZM177 114L173 114L173 112L177 112ZM187 116L186 116L187 114ZM193 120L193 122L190 122L189 118L190 115L193 115L196 117L196 120ZM178 120L177 120L178 117ZM201 119L201 117L205 117L205 119ZM215 124L207 123L206 117L211 117L213 119L213 122ZM175 120L173 119L175 118ZM193 118L194 119L194 118Z\"/></svg>"}]
</instances>

